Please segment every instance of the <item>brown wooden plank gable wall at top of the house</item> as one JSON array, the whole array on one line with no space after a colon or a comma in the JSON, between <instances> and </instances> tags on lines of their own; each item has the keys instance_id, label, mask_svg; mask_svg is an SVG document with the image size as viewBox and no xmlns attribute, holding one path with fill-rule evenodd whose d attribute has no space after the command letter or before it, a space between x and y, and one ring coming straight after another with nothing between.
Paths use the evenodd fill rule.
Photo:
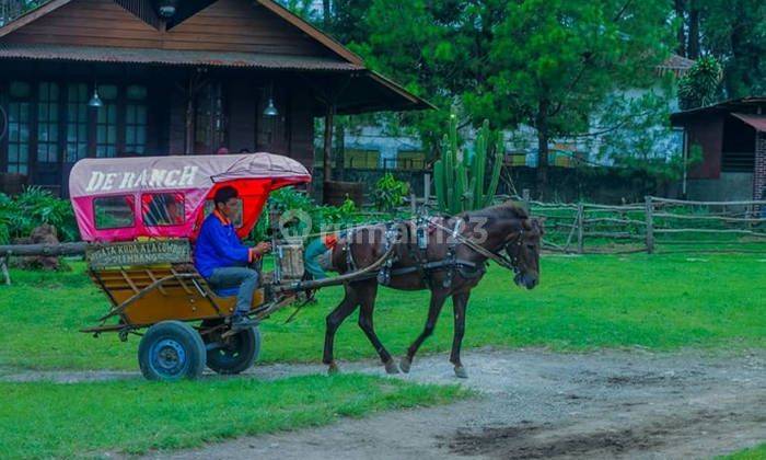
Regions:
<instances>
[{"instance_id":1,"label":"brown wooden plank gable wall at top of the house","mask_svg":"<svg viewBox=\"0 0 766 460\"><path fill-rule=\"evenodd\" d=\"M330 56L300 30L247 0L219 0L170 31L149 25L113 0L74 0L0 42Z\"/></svg>"}]
</instances>

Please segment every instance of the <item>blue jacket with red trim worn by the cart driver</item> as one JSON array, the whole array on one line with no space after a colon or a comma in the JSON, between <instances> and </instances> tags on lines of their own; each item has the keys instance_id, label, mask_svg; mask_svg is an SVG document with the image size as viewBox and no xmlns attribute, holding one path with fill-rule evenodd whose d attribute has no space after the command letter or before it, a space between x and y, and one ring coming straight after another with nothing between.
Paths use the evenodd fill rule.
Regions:
<instances>
[{"instance_id":1,"label":"blue jacket with red trim worn by the cart driver","mask_svg":"<svg viewBox=\"0 0 766 460\"><path fill-rule=\"evenodd\" d=\"M202 222L194 251L194 265L209 278L216 268L242 267L255 260L252 248L242 244L234 225L218 210Z\"/></svg>"}]
</instances>

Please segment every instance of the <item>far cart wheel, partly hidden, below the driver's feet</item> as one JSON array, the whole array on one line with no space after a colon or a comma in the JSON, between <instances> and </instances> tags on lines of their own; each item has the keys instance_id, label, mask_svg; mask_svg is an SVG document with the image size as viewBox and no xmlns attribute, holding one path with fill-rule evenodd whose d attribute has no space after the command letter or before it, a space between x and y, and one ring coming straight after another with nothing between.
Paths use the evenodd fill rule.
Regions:
<instances>
[{"instance_id":1,"label":"far cart wheel, partly hidden, below the driver's feet","mask_svg":"<svg viewBox=\"0 0 766 460\"><path fill-rule=\"evenodd\" d=\"M202 322L202 326L216 325L212 322ZM206 344L214 344L220 341L220 334L206 334L202 336ZM208 367L224 375L240 373L249 369L260 353L260 332L257 326L245 329L232 335L222 343L222 346L208 349Z\"/></svg>"}]
</instances>

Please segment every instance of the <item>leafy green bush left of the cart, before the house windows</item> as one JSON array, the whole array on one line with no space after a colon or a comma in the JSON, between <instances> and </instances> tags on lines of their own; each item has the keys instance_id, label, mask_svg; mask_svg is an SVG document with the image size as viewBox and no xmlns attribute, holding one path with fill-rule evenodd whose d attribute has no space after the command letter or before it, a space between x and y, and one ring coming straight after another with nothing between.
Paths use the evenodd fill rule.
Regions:
<instances>
[{"instance_id":1,"label":"leafy green bush left of the cart, before the house windows","mask_svg":"<svg viewBox=\"0 0 766 460\"><path fill-rule=\"evenodd\" d=\"M79 238L69 200L56 198L39 187L27 187L13 198L0 194L0 244L9 244L15 238L26 238L43 223L56 227L61 241L76 241Z\"/></svg>"}]
</instances>

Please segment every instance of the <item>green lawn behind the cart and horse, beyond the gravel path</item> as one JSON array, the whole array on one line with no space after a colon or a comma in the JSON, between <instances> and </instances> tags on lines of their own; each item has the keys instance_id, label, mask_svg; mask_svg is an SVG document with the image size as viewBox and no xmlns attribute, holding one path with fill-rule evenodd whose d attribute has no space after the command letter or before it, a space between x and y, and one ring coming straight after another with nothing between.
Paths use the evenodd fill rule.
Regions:
<instances>
[{"instance_id":1,"label":"green lawn behind the cart and horse, beyond the gravel path","mask_svg":"<svg viewBox=\"0 0 766 460\"><path fill-rule=\"evenodd\" d=\"M582 350L641 346L766 346L766 253L726 255L546 256L542 285L517 288L511 274L491 267L468 306L466 346L546 346ZM94 323L107 301L76 265L72 273L13 272L15 285L0 287L0 369L137 369L137 337L95 340L78 332ZM263 361L318 361L325 315L340 288L321 292L285 324L287 310L263 324ZM395 355L421 331L427 292L382 288L375 326ZM452 342L451 306L422 350L444 352ZM356 324L341 326L336 357L375 356ZM446 359L446 357L445 357Z\"/></svg>"}]
</instances>

